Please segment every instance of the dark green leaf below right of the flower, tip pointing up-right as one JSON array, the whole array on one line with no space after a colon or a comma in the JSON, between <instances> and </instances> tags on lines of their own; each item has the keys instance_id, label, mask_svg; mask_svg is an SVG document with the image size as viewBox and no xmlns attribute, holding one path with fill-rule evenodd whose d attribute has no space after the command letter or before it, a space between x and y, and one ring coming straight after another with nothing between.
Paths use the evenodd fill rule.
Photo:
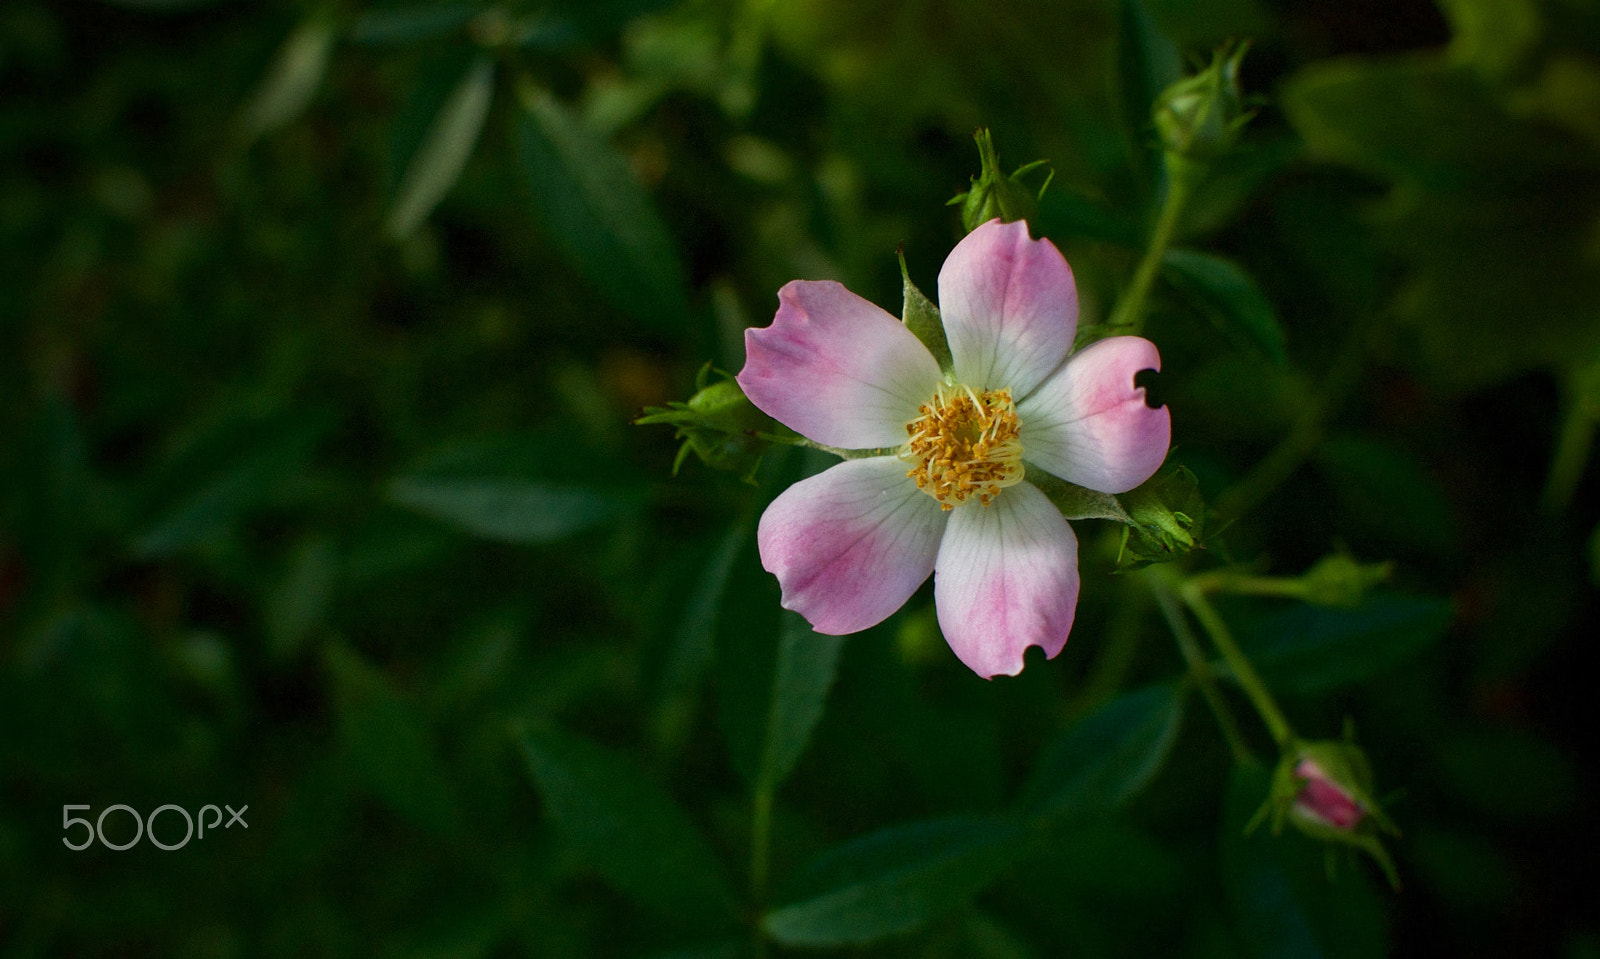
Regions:
<instances>
[{"instance_id":1,"label":"dark green leaf below right of the flower, tip pointing up-right","mask_svg":"<svg viewBox=\"0 0 1600 959\"><path fill-rule=\"evenodd\" d=\"M1184 688L1176 684L1112 700L1040 752L1018 809L1027 817L1066 818L1120 805L1160 772L1182 706Z\"/></svg>"}]
</instances>

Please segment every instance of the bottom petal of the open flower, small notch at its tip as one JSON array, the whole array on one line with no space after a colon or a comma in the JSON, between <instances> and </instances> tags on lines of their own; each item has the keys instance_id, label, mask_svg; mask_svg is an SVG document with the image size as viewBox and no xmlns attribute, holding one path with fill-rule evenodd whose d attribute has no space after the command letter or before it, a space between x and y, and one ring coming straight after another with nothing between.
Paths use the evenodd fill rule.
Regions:
<instances>
[{"instance_id":1,"label":"bottom petal of the open flower, small notch at its tip","mask_svg":"<svg viewBox=\"0 0 1600 959\"><path fill-rule=\"evenodd\" d=\"M939 629L973 672L1022 671L1022 650L1054 656L1078 605L1078 538L1032 484L989 506L960 506L939 546L933 596Z\"/></svg>"}]
</instances>

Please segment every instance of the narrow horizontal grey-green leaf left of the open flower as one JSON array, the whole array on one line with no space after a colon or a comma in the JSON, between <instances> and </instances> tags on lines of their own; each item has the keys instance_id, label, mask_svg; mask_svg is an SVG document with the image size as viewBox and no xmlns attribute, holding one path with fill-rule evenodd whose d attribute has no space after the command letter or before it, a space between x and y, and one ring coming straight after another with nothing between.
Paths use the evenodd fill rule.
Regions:
<instances>
[{"instance_id":1,"label":"narrow horizontal grey-green leaf left of the open flower","mask_svg":"<svg viewBox=\"0 0 1600 959\"><path fill-rule=\"evenodd\" d=\"M550 543L629 516L638 496L533 479L402 477L389 500L501 543Z\"/></svg>"}]
</instances>

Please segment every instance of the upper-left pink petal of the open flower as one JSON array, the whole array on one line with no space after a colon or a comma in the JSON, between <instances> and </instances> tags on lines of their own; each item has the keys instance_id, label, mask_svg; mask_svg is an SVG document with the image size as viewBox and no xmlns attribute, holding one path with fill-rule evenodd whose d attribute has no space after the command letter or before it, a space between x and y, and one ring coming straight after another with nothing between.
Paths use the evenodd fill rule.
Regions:
<instances>
[{"instance_id":1,"label":"upper-left pink petal of the open flower","mask_svg":"<svg viewBox=\"0 0 1600 959\"><path fill-rule=\"evenodd\" d=\"M778 315L744 331L738 381L750 402L802 435L846 450L898 447L939 386L915 335L830 280L794 280Z\"/></svg>"}]
</instances>

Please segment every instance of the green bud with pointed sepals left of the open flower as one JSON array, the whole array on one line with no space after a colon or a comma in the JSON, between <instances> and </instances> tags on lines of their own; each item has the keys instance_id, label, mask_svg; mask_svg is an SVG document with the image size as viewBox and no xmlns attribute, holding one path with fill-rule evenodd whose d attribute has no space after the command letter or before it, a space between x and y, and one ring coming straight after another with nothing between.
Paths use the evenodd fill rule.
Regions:
<instances>
[{"instance_id":1,"label":"green bud with pointed sepals left of the open flower","mask_svg":"<svg viewBox=\"0 0 1600 959\"><path fill-rule=\"evenodd\" d=\"M722 379L712 383L712 373ZM672 400L666 407L645 407L643 415L634 419L634 426L659 423L677 429L683 445L672 461L672 475L677 475L688 455L694 453L706 466L736 472L744 482L754 484L762 456L771 445L762 434L782 432L782 427L755 408L733 376L712 370L710 363L701 367L694 378L694 391L686 403Z\"/></svg>"}]
</instances>

